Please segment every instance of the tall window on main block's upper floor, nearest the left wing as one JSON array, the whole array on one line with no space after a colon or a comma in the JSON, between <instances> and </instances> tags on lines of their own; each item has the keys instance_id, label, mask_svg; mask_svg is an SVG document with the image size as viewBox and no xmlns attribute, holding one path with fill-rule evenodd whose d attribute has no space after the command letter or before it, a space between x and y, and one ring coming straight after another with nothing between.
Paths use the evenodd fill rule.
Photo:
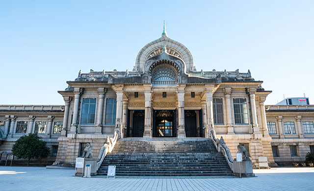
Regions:
<instances>
[{"instance_id":1,"label":"tall window on main block's upper floor, nearest the left wing","mask_svg":"<svg viewBox=\"0 0 314 191\"><path fill-rule=\"evenodd\" d=\"M80 124L95 124L96 98L83 98Z\"/></svg>"}]
</instances>

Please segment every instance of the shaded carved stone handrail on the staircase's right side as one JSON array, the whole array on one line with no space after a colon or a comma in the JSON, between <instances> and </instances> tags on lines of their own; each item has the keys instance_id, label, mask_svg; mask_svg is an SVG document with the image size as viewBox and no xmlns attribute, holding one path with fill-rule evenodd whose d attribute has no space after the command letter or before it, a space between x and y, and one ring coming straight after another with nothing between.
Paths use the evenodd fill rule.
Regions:
<instances>
[{"instance_id":1,"label":"shaded carved stone handrail on the staircase's right side","mask_svg":"<svg viewBox=\"0 0 314 191\"><path fill-rule=\"evenodd\" d=\"M222 136L221 136L220 140L217 139L216 138L216 132L214 129L210 129L209 133L210 133L210 139L214 143L217 151L221 152L224 155L224 157L227 160L229 167L233 171L234 170L234 168L233 168L234 160L231 156L230 150L229 150L227 144L225 143L224 139L222 138Z\"/></svg>"}]
</instances>

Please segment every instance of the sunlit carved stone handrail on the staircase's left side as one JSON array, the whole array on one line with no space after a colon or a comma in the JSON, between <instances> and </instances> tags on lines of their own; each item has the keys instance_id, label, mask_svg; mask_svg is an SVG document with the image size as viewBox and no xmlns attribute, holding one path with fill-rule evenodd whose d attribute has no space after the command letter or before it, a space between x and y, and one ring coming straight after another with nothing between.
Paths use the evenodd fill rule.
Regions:
<instances>
[{"instance_id":1,"label":"sunlit carved stone handrail on the staircase's left side","mask_svg":"<svg viewBox=\"0 0 314 191\"><path fill-rule=\"evenodd\" d=\"M119 130L114 130L113 138L109 139L109 137L107 137L107 141L104 144L104 146L101 147L101 149L99 151L99 155L97 157L97 170L102 165L104 158L107 155L107 153L112 152L113 147L117 143L118 137L119 137Z\"/></svg>"}]
</instances>

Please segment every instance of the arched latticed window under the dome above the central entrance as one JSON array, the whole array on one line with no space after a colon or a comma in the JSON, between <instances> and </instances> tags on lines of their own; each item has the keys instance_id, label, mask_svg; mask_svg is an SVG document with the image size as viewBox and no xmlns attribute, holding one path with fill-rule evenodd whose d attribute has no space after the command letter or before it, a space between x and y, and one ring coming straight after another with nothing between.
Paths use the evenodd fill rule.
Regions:
<instances>
[{"instance_id":1,"label":"arched latticed window under the dome above the central entrance","mask_svg":"<svg viewBox=\"0 0 314 191\"><path fill-rule=\"evenodd\" d=\"M177 84L177 72L171 65L159 65L152 71L152 83L163 85Z\"/></svg>"}]
</instances>

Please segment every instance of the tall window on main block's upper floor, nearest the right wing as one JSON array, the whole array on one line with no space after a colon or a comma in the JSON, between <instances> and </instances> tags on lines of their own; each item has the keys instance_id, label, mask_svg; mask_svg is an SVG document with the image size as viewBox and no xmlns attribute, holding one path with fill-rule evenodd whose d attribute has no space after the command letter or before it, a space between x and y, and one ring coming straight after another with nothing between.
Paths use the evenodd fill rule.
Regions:
<instances>
[{"instance_id":1,"label":"tall window on main block's upper floor, nearest the right wing","mask_svg":"<svg viewBox=\"0 0 314 191\"><path fill-rule=\"evenodd\" d=\"M245 98L234 98L235 124L249 124L247 101Z\"/></svg>"}]
</instances>

